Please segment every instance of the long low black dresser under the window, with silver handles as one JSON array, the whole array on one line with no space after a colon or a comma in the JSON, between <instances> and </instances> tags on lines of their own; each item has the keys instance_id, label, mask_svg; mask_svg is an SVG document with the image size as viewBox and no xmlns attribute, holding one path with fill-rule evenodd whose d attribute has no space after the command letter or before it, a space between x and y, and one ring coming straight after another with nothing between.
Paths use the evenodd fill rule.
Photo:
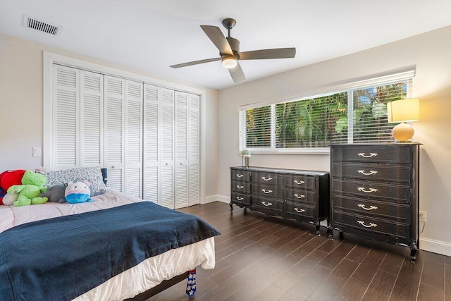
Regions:
<instances>
[{"instance_id":1,"label":"long low black dresser under the window, with silver handles","mask_svg":"<svg viewBox=\"0 0 451 301\"><path fill-rule=\"evenodd\" d=\"M230 167L233 204L316 225L328 216L329 173L264 167Z\"/></svg>"}]
</instances>

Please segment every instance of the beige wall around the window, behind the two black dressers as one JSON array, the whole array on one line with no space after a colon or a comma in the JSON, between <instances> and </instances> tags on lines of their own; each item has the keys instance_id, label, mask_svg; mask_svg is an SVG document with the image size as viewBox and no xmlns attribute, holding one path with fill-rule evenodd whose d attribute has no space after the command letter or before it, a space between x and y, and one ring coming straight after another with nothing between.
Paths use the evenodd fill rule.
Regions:
<instances>
[{"instance_id":1,"label":"beige wall around the window, behind the two black dressers","mask_svg":"<svg viewBox=\"0 0 451 301\"><path fill-rule=\"evenodd\" d=\"M451 214L451 39L447 37L451 27L219 91L218 195L228 199L228 168L240 165L237 106L415 66L413 97L420 99L421 121L414 123L414 141L423 143L420 210L427 212L420 247L451 255L451 223L447 223ZM328 155L253 154L251 165L328 171L329 159Z\"/></svg>"}]
</instances>

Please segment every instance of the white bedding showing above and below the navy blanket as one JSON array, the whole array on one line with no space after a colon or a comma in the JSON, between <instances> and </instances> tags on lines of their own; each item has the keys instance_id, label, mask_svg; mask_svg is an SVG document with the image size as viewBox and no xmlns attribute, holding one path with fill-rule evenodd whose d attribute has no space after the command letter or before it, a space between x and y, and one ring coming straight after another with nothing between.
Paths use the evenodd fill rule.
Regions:
<instances>
[{"instance_id":1,"label":"white bedding showing above and below the navy blanket","mask_svg":"<svg viewBox=\"0 0 451 301\"><path fill-rule=\"evenodd\" d=\"M81 204L47 202L24 207L0 206L0 233L31 221L80 214L135 202L147 202L114 190L108 190L103 195L92 197L92 199L93 202ZM214 269L214 238L207 238L192 245L150 257L74 300L123 300L134 297L153 288L161 281L183 274L196 266Z\"/></svg>"}]
</instances>

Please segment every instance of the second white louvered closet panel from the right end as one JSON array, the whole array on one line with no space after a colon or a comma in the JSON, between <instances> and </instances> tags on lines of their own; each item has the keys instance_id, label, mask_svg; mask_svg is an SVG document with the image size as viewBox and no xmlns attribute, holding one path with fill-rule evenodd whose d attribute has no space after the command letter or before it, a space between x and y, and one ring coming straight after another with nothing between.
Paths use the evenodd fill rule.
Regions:
<instances>
[{"instance_id":1,"label":"second white louvered closet panel from the right end","mask_svg":"<svg viewBox=\"0 0 451 301\"><path fill-rule=\"evenodd\" d=\"M175 209L188 206L188 102L175 92Z\"/></svg>"}]
</instances>

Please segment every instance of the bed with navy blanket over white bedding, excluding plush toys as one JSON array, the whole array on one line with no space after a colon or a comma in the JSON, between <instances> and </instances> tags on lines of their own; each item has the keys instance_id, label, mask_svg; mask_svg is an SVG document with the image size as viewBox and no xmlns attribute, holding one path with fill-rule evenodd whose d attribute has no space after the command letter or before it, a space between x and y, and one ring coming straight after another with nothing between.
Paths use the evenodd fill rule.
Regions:
<instances>
[{"instance_id":1,"label":"bed with navy blanket over white bedding, excluding plush toys","mask_svg":"<svg viewBox=\"0 0 451 301\"><path fill-rule=\"evenodd\" d=\"M2 300L142 300L196 266L214 268L220 233L197 216L109 189L92 199L0 206Z\"/></svg>"}]
</instances>

